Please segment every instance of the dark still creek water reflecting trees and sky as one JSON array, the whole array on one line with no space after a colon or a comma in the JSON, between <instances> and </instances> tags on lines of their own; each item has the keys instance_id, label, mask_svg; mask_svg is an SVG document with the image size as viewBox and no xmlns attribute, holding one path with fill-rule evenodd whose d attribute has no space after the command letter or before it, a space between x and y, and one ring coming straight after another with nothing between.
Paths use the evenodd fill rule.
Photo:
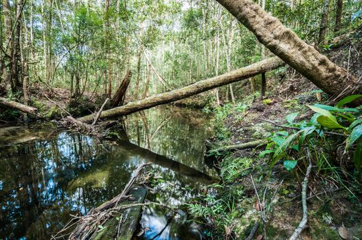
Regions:
<instances>
[{"instance_id":1,"label":"dark still creek water reflecting trees and sky","mask_svg":"<svg viewBox=\"0 0 362 240\"><path fill-rule=\"evenodd\" d=\"M181 206L216 176L203 162L207 119L200 112L156 108L127 117L117 141L58 130L55 125L0 128L0 239L50 239L69 221L119 194L142 163L155 193L147 199ZM179 211L147 207L139 239L200 239ZM166 226L166 228L165 228Z\"/></svg>"}]
</instances>

